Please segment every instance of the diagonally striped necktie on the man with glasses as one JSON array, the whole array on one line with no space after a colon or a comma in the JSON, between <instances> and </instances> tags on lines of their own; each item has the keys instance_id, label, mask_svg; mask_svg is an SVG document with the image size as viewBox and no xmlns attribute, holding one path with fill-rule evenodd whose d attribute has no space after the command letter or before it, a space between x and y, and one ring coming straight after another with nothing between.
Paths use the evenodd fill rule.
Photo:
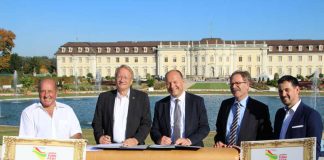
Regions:
<instances>
[{"instance_id":1,"label":"diagonally striped necktie on the man with glasses","mask_svg":"<svg viewBox=\"0 0 324 160\"><path fill-rule=\"evenodd\" d=\"M238 128L238 119L240 116L240 108L241 105L240 103L235 103L236 107L236 113L233 118L233 122L230 128L230 136L228 139L228 145L235 145L236 144L236 139L237 139L237 128Z\"/></svg>"}]
</instances>

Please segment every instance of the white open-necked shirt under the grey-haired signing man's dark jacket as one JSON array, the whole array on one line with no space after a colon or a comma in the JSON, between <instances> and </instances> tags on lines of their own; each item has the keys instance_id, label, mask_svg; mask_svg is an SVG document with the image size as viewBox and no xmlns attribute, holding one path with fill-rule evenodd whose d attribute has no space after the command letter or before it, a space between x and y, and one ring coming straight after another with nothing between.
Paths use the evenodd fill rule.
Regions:
<instances>
[{"instance_id":1,"label":"white open-necked shirt under the grey-haired signing man's dark jacket","mask_svg":"<svg viewBox=\"0 0 324 160\"><path fill-rule=\"evenodd\" d=\"M126 96L122 96L117 92L117 96L115 98L113 142L122 143L125 140L129 93L130 90L128 90Z\"/></svg>"}]
</instances>

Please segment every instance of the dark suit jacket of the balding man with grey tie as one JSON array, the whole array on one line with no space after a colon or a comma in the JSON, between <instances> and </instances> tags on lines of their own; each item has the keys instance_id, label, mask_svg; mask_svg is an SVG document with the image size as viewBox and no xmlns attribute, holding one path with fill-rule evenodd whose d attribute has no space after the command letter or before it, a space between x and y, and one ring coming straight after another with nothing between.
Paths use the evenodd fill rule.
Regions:
<instances>
[{"instance_id":1,"label":"dark suit jacket of the balding man with grey tie","mask_svg":"<svg viewBox=\"0 0 324 160\"><path fill-rule=\"evenodd\" d=\"M155 104L151 138L156 144L162 136L171 137L170 99L168 96ZM186 92L185 101L185 138L194 146L203 146L202 140L209 133L204 99Z\"/></svg>"}]
</instances>

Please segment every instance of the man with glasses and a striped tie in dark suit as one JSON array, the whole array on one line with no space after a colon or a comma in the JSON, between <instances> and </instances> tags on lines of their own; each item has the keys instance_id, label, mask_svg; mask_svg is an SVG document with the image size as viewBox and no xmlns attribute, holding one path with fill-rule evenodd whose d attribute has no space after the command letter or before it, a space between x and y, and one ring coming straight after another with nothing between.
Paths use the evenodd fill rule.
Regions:
<instances>
[{"instance_id":1,"label":"man with glasses and a striped tie in dark suit","mask_svg":"<svg viewBox=\"0 0 324 160\"><path fill-rule=\"evenodd\" d=\"M268 106L248 96L251 76L235 71L230 77L234 97L222 102L216 121L214 147L240 146L241 141L273 137Z\"/></svg>"}]
</instances>

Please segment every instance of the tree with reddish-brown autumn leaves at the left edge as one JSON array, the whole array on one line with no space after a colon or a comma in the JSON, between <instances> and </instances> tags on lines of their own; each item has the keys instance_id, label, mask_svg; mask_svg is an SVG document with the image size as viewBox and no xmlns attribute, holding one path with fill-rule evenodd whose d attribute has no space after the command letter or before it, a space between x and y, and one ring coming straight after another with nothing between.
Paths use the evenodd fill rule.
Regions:
<instances>
[{"instance_id":1,"label":"tree with reddish-brown autumn leaves at the left edge","mask_svg":"<svg viewBox=\"0 0 324 160\"><path fill-rule=\"evenodd\" d=\"M11 50L15 46L13 42L16 35L12 31L0 28L0 71L9 71Z\"/></svg>"}]
</instances>

